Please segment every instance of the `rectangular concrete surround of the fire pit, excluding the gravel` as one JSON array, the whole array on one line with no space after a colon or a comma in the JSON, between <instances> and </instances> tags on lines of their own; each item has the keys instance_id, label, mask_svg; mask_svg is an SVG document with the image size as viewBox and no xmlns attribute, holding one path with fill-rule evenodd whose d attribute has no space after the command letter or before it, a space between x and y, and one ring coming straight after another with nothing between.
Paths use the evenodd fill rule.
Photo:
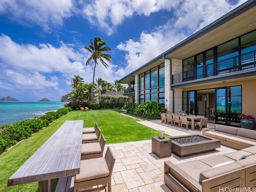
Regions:
<instances>
[{"instance_id":1,"label":"rectangular concrete surround of the fire pit, excluding the gravel","mask_svg":"<svg viewBox=\"0 0 256 192\"><path fill-rule=\"evenodd\" d=\"M213 139L206 136L201 136L201 135L200 137L202 137L203 139L205 138L206 140L199 141L199 142L190 142L186 144L180 144L173 140L174 138L186 138L190 136L199 136L199 135L169 137L169 139L172 140L172 152L174 152L178 156L184 157L188 155L216 150L216 148L220 147L220 140Z\"/></svg>"}]
</instances>

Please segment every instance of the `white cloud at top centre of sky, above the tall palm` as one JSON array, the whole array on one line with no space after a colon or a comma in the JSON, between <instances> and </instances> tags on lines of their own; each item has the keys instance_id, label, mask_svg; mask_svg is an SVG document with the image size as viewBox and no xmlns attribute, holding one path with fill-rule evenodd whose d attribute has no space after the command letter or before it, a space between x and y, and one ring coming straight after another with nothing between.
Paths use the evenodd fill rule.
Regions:
<instances>
[{"instance_id":1,"label":"white cloud at top centre of sky, above the tall palm","mask_svg":"<svg viewBox=\"0 0 256 192\"><path fill-rule=\"evenodd\" d=\"M124 19L134 15L150 16L160 10L170 11L179 0L92 0L84 5L84 17L94 26L100 26L108 35L115 32Z\"/></svg>"}]
</instances>

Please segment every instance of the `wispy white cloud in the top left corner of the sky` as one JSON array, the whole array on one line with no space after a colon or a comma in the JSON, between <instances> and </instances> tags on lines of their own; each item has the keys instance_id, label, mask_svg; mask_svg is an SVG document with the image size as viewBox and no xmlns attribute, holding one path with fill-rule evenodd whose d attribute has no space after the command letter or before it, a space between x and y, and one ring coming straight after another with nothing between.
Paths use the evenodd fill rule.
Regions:
<instances>
[{"instance_id":1,"label":"wispy white cloud in the top left corner of the sky","mask_svg":"<svg viewBox=\"0 0 256 192\"><path fill-rule=\"evenodd\" d=\"M46 31L61 26L72 15L72 0L1 0L0 14L24 25L40 25Z\"/></svg>"}]
</instances>

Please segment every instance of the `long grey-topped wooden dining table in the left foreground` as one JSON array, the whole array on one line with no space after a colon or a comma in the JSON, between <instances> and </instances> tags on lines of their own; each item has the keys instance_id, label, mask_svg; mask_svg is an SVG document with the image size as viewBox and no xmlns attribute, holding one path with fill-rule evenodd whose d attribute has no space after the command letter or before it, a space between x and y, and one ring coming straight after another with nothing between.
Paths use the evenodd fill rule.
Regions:
<instances>
[{"instance_id":1,"label":"long grey-topped wooden dining table in the left foreground","mask_svg":"<svg viewBox=\"0 0 256 192\"><path fill-rule=\"evenodd\" d=\"M64 122L8 179L8 186L38 181L38 192L50 192L51 179L79 174L83 124Z\"/></svg>"}]
</instances>

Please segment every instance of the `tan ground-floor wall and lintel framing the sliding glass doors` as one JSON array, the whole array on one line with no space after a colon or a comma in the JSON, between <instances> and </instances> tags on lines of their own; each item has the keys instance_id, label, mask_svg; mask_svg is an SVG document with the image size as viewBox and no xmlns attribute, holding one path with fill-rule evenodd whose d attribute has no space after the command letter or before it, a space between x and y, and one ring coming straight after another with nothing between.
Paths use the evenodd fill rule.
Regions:
<instances>
[{"instance_id":1,"label":"tan ground-floor wall and lintel framing the sliding glass doors","mask_svg":"<svg viewBox=\"0 0 256 192\"><path fill-rule=\"evenodd\" d=\"M248 81L240 81L234 83L224 83L224 84L216 84L212 86L201 86L197 87L196 90L210 89L210 88L220 88L220 87L228 87L228 86L242 86L242 113L246 115L252 115L256 117L256 80L248 80ZM194 88L183 89L182 91L190 91L195 90ZM210 102L215 103L215 98L209 98ZM214 105L213 103L213 105ZM212 103L211 103L212 105Z\"/></svg>"}]
</instances>

